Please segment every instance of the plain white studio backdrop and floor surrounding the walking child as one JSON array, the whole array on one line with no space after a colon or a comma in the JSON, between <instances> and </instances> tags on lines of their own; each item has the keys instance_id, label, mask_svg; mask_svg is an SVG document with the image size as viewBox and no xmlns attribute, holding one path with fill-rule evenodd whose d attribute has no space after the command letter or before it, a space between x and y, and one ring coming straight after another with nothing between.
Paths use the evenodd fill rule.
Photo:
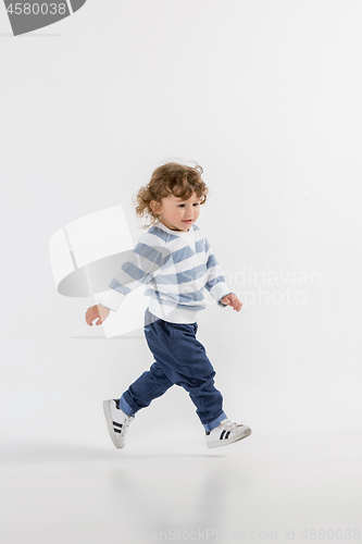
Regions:
<instances>
[{"instance_id":1,"label":"plain white studio backdrop and floor surrounding the walking child","mask_svg":"<svg viewBox=\"0 0 362 544\"><path fill-rule=\"evenodd\" d=\"M0 8L8 543L98 544L125 527L147 541L207 522L240 531L236 505L250 508L252 530L267 526L280 541L286 528L358 527L361 18L351 0L89 0L13 37ZM168 160L204 169L210 197L198 225L245 307L210 304L198 338L225 411L253 434L210 453L194 405L174 387L139 412L127 449L113 452L101 403L152 356L142 330L108 341L86 325L92 300L57 293L48 242L122 203L136 243L143 231L132 197ZM272 275L277 284L263 282ZM83 497L74 504L86 505L77 517L73 484ZM122 530L110 511L123 511Z\"/></svg>"}]
</instances>

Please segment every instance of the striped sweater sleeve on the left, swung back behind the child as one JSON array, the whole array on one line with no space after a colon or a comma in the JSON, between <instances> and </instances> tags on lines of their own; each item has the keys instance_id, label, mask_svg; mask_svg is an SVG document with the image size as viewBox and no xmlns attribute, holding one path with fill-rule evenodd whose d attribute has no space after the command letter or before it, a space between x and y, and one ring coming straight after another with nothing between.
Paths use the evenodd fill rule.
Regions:
<instances>
[{"instance_id":1,"label":"striped sweater sleeve on the left, swung back behind the child","mask_svg":"<svg viewBox=\"0 0 362 544\"><path fill-rule=\"evenodd\" d=\"M150 282L170 262L170 251L163 240L152 234L142 234L127 260L110 283L110 290L96 296L98 302L117 311L125 297L140 285Z\"/></svg>"}]
</instances>

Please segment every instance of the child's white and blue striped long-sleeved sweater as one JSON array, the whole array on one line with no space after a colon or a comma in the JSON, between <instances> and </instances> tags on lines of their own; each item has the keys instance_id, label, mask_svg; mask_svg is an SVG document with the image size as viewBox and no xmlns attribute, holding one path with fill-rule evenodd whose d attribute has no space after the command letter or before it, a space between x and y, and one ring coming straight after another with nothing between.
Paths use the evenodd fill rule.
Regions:
<instances>
[{"instance_id":1,"label":"child's white and blue striped long-sleeved sweater","mask_svg":"<svg viewBox=\"0 0 362 544\"><path fill-rule=\"evenodd\" d=\"M117 311L140 285L150 297L149 311L171 323L197 321L205 309L205 288L222 307L226 305L220 300L232 293L208 239L195 224L187 232L172 231L161 222L150 226L111 281L111 289L97 300Z\"/></svg>"}]
</instances>

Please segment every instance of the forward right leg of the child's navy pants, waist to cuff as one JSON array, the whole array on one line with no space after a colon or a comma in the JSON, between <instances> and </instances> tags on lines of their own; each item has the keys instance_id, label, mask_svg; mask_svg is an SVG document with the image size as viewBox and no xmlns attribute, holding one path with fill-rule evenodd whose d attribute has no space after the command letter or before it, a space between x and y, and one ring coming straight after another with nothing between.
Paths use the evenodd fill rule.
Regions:
<instances>
[{"instance_id":1,"label":"forward right leg of the child's navy pants, waist to cuff","mask_svg":"<svg viewBox=\"0 0 362 544\"><path fill-rule=\"evenodd\" d=\"M196 338L197 323L183 324L157 320L145 326L154 359L168 380L184 387L197 407L207 430L226 418L223 397L214 386L215 371L203 345Z\"/></svg>"}]
</instances>

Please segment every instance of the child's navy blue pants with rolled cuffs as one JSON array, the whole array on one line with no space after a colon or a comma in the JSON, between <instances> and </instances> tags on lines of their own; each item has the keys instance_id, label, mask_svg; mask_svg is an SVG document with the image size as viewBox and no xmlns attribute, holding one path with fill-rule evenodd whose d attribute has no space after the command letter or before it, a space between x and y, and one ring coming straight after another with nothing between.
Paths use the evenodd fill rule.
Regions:
<instances>
[{"instance_id":1,"label":"child's navy blue pants with rolled cuffs","mask_svg":"<svg viewBox=\"0 0 362 544\"><path fill-rule=\"evenodd\" d=\"M196 339L198 324L170 323L147 309L143 330L154 362L122 395L121 409L134 416L176 384L189 394L204 429L212 431L226 415L222 394L214 386L215 371Z\"/></svg>"}]
</instances>

